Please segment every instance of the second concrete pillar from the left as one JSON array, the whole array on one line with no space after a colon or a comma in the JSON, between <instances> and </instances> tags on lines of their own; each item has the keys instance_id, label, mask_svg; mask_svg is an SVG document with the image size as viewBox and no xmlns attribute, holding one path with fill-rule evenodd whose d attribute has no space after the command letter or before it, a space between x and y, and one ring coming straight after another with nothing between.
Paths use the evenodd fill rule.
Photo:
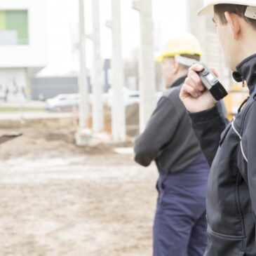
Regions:
<instances>
[{"instance_id":1,"label":"second concrete pillar from the left","mask_svg":"<svg viewBox=\"0 0 256 256\"><path fill-rule=\"evenodd\" d=\"M103 65L100 54L100 6L93 0L93 132L104 130Z\"/></svg>"}]
</instances>

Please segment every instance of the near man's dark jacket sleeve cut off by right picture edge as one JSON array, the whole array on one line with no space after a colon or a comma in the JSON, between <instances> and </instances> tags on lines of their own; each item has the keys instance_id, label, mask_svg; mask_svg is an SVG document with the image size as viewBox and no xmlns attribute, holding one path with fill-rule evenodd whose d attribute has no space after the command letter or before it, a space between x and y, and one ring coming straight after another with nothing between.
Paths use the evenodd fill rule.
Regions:
<instances>
[{"instance_id":1,"label":"near man's dark jacket sleeve cut off by right picture edge","mask_svg":"<svg viewBox=\"0 0 256 256\"><path fill-rule=\"evenodd\" d=\"M244 166L247 166L247 180L252 202L252 211L256 218L256 102L253 103L250 114L246 117L246 126L242 135L241 152ZM246 160L245 160L246 159ZM247 163L246 163L247 161Z\"/></svg>"}]
</instances>

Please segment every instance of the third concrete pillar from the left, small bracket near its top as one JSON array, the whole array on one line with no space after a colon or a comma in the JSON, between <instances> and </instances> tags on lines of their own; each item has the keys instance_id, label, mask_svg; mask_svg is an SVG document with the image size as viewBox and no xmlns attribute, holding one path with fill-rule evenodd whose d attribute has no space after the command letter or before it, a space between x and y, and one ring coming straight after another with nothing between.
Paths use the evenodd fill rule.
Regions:
<instances>
[{"instance_id":1,"label":"third concrete pillar from the left, small bracket near its top","mask_svg":"<svg viewBox=\"0 0 256 256\"><path fill-rule=\"evenodd\" d=\"M124 72L121 42L121 4L112 0L112 138L114 142L126 140L126 109L124 102Z\"/></svg>"}]
</instances>

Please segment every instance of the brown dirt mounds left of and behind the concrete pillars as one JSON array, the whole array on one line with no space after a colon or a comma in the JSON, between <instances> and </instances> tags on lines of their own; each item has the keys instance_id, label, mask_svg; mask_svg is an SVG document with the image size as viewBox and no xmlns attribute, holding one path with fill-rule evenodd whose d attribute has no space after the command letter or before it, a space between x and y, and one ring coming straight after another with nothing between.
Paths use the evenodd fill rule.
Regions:
<instances>
[{"instance_id":1,"label":"brown dirt mounds left of and behind the concrete pillars","mask_svg":"<svg viewBox=\"0 0 256 256\"><path fill-rule=\"evenodd\" d=\"M92 118L88 121L92 127ZM111 109L105 107L105 130L111 134ZM139 106L126 107L126 130L128 142L123 144L97 144L95 147L78 147L75 144L77 119L33 119L30 121L1 121L0 135L22 133L21 137L0 145L0 159L29 156L32 159L48 156L71 156L72 154L115 154L114 147L133 147L132 138L139 133ZM129 139L130 138L130 139Z\"/></svg>"}]
</instances>

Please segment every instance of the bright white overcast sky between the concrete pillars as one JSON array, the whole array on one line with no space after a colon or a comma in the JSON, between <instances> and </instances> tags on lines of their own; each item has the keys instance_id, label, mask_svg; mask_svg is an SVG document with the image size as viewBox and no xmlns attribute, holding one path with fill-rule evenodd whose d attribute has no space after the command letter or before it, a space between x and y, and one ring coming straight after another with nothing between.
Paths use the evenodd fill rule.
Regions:
<instances>
[{"instance_id":1,"label":"bright white overcast sky between the concrete pillars","mask_svg":"<svg viewBox=\"0 0 256 256\"><path fill-rule=\"evenodd\" d=\"M91 2L86 4L86 30L91 31ZM155 27L155 48L161 48L170 37L186 31L186 0L152 0ZM43 74L65 74L77 69L74 43L78 40L78 0L47 0L48 4L48 67ZM123 57L139 47L139 13L130 0L121 0ZM111 18L111 0L100 0L102 58L111 58L111 31L105 27ZM92 46L87 43L88 66L92 62ZM156 53L155 53L156 54Z\"/></svg>"}]
</instances>

